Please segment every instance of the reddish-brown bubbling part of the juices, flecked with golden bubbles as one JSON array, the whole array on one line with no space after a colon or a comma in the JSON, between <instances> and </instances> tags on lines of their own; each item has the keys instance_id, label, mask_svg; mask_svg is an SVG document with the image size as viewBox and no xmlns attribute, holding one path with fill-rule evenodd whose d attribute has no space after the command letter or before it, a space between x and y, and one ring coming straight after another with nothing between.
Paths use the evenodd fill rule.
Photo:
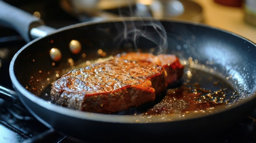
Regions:
<instances>
[{"instance_id":1,"label":"reddish-brown bubbling part of the juices, flecked with golden bubbles","mask_svg":"<svg viewBox=\"0 0 256 143\"><path fill-rule=\"evenodd\" d=\"M164 98L144 114L156 115L185 113L189 111L196 112L211 109L217 105L228 104L229 99L225 99L225 90L226 88L211 91L199 87L198 84L195 84L195 87L186 87L184 85L179 88L168 89Z\"/></svg>"}]
</instances>

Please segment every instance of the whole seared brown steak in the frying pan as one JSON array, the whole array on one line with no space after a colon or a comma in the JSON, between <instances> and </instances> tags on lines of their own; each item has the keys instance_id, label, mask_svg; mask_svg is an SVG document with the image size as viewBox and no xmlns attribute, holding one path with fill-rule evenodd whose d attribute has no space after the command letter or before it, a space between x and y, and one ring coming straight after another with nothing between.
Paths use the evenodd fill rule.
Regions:
<instances>
[{"instance_id":1,"label":"whole seared brown steak in the frying pan","mask_svg":"<svg viewBox=\"0 0 256 143\"><path fill-rule=\"evenodd\" d=\"M154 102L168 84L181 78L174 55L127 53L64 74L52 86L54 103L71 109L118 113Z\"/></svg>"}]
</instances>

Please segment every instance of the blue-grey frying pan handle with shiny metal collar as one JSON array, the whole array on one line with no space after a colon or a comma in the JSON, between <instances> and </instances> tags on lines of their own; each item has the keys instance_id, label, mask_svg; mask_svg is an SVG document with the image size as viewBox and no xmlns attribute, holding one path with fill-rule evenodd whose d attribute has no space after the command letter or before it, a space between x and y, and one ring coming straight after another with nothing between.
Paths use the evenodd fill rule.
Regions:
<instances>
[{"instance_id":1,"label":"blue-grey frying pan handle with shiny metal collar","mask_svg":"<svg viewBox=\"0 0 256 143\"><path fill-rule=\"evenodd\" d=\"M55 30L44 25L43 20L2 0L0 0L0 24L19 32L26 42L44 37Z\"/></svg>"}]
</instances>

